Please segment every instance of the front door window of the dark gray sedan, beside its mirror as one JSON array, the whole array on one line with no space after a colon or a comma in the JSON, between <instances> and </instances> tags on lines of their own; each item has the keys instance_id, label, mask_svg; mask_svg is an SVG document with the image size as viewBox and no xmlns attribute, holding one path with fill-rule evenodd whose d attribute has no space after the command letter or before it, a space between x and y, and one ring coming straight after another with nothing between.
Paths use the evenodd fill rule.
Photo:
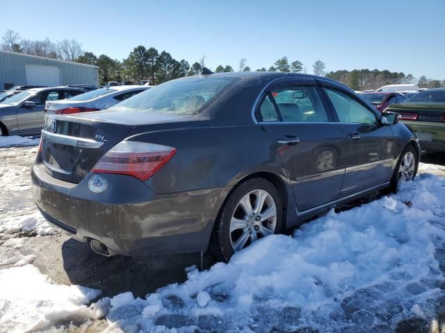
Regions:
<instances>
[{"instance_id":1,"label":"front door window of the dark gray sedan, beside its mirror","mask_svg":"<svg viewBox=\"0 0 445 333\"><path fill-rule=\"evenodd\" d=\"M351 96L338 90L325 88L339 121L342 123L376 123L375 113L355 101Z\"/></svg>"}]
</instances>

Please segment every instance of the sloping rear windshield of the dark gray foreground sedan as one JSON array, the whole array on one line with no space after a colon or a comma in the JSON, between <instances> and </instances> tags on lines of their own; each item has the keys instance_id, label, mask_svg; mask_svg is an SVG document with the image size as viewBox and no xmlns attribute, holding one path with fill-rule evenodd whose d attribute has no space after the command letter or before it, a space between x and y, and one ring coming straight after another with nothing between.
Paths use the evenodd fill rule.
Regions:
<instances>
[{"instance_id":1,"label":"sloping rear windshield of the dark gray foreground sedan","mask_svg":"<svg viewBox=\"0 0 445 333\"><path fill-rule=\"evenodd\" d=\"M200 114L236 80L212 77L173 80L141 92L108 110Z\"/></svg>"}]
</instances>

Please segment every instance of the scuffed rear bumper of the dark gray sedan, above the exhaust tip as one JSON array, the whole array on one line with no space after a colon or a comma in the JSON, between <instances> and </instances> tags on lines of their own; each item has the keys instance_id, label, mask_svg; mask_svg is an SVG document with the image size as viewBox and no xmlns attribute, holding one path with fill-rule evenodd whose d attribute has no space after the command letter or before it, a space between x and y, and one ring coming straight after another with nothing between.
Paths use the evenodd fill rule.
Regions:
<instances>
[{"instance_id":1,"label":"scuffed rear bumper of the dark gray sedan, above the exhaust tip","mask_svg":"<svg viewBox=\"0 0 445 333\"><path fill-rule=\"evenodd\" d=\"M75 239L97 239L121 255L206 250L213 222L232 188L156 194L131 176L104 174L108 188L96 194L88 189L91 176L74 185L52 178L41 164L34 164L35 203L50 223ZM127 189L122 189L122 182Z\"/></svg>"}]
</instances>

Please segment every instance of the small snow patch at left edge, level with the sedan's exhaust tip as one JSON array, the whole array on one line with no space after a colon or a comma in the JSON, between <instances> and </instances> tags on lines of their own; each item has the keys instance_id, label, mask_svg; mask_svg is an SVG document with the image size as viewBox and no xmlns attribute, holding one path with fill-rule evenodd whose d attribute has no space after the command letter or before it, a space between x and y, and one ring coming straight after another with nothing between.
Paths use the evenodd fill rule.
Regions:
<instances>
[{"instance_id":1,"label":"small snow patch at left edge, level with the sedan's exhaust tip","mask_svg":"<svg viewBox=\"0 0 445 333\"><path fill-rule=\"evenodd\" d=\"M19 216L3 216L0 219L0 234L15 232L35 232L38 236L54 234L54 228L44 219L40 212Z\"/></svg>"}]
</instances>

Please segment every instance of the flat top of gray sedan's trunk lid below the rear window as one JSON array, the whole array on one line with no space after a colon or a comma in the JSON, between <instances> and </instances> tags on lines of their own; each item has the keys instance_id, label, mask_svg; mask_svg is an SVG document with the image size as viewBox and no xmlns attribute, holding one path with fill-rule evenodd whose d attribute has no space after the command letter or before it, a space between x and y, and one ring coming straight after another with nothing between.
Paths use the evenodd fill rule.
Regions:
<instances>
[{"instance_id":1,"label":"flat top of gray sedan's trunk lid below the rear window","mask_svg":"<svg viewBox=\"0 0 445 333\"><path fill-rule=\"evenodd\" d=\"M168 114L145 111L130 110L102 110L95 112L85 112L68 115L66 117L75 117L78 119L92 119L96 121L106 121L109 123L120 123L122 125L144 125L147 123L161 123L174 121L187 121L195 117L185 114Z\"/></svg>"}]
</instances>

